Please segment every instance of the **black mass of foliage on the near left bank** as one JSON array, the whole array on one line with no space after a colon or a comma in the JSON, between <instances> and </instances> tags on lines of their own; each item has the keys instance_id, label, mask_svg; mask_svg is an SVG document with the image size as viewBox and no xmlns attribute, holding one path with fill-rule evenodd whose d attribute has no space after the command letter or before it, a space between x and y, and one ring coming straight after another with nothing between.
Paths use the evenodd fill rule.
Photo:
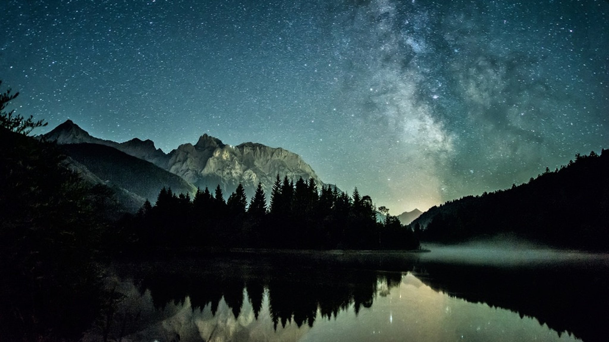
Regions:
<instances>
[{"instance_id":1,"label":"black mass of foliage on the near left bank","mask_svg":"<svg viewBox=\"0 0 609 342\"><path fill-rule=\"evenodd\" d=\"M78 340L100 308L108 189L63 168L54 144L0 127L0 145L0 336Z\"/></svg>"}]
</instances>

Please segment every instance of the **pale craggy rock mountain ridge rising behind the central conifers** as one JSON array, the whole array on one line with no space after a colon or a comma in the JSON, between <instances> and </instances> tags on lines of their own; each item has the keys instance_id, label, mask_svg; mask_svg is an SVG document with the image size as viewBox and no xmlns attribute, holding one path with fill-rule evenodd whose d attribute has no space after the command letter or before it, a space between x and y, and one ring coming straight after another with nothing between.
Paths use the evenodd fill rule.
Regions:
<instances>
[{"instance_id":1,"label":"pale craggy rock mountain ridge rising behind the central conifers","mask_svg":"<svg viewBox=\"0 0 609 342\"><path fill-rule=\"evenodd\" d=\"M258 183L262 183L264 190L269 192L277 174L294 181L300 177L305 180L312 178L319 187L325 184L296 153L254 142L233 147L207 134L203 134L196 144L182 144L169 153L155 148L151 140L134 138L119 143L95 138L71 120L58 125L43 137L58 144L89 142L114 147L152 162L195 186L213 190L220 184L226 194L239 183L243 184L248 196L253 195Z\"/></svg>"}]
</instances>

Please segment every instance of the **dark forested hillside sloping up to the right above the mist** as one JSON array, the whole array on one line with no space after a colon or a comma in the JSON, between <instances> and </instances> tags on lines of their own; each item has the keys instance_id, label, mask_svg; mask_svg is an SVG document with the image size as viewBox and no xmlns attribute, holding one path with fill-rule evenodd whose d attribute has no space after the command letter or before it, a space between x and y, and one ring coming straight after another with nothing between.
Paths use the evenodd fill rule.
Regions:
<instances>
[{"instance_id":1,"label":"dark forested hillside sloping up to the right above the mist","mask_svg":"<svg viewBox=\"0 0 609 342\"><path fill-rule=\"evenodd\" d=\"M513 232L566 248L607 250L609 150L576 155L529 183L429 209L410 224L421 239L461 242Z\"/></svg>"}]
</instances>

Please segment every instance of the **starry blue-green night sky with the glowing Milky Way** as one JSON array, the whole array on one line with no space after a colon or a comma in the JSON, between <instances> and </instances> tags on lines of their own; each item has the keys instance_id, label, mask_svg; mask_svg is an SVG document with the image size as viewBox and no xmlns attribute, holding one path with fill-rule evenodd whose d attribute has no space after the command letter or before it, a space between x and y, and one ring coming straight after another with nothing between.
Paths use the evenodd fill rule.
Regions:
<instances>
[{"instance_id":1,"label":"starry blue-green night sky with the glowing Milky Way","mask_svg":"<svg viewBox=\"0 0 609 342\"><path fill-rule=\"evenodd\" d=\"M37 133L283 147L393 215L609 148L605 0L2 4L0 90Z\"/></svg>"}]
</instances>

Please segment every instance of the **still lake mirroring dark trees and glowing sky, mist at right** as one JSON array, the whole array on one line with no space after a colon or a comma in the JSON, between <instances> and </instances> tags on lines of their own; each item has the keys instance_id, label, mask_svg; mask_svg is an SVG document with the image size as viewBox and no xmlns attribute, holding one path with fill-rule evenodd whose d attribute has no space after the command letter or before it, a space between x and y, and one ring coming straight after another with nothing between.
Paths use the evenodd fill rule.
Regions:
<instances>
[{"instance_id":1,"label":"still lake mirroring dark trees and glowing sky, mist at right","mask_svg":"<svg viewBox=\"0 0 609 342\"><path fill-rule=\"evenodd\" d=\"M607 340L607 254L428 248L115 262L85 340Z\"/></svg>"}]
</instances>

